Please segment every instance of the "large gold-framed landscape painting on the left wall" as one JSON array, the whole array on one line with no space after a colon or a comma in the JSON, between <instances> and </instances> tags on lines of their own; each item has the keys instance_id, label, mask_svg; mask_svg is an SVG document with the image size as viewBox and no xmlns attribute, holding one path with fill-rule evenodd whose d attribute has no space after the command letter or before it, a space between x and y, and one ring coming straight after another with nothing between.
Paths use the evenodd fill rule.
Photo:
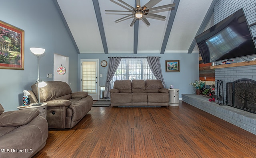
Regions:
<instances>
[{"instance_id":1,"label":"large gold-framed landscape painting on the left wall","mask_svg":"<svg viewBox=\"0 0 256 158\"><path fill-rule=\"evenodd\" d=\"M0 21L0 68L24 70L24 30Z\"/></svg>"}]
</instances>

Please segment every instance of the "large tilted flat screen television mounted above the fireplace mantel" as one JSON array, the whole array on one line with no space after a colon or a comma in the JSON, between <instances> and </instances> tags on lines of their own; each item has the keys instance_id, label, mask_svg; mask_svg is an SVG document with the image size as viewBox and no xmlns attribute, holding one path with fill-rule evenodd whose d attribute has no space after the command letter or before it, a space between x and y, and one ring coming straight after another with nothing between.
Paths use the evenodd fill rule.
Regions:
<instances>
[{"instance_id":1,"label":"large tilted flat screen television mounted above the fireplace mantel","mask_svg":"<svg viewBox=\"0 0 256 158\"><path fill-rule=\"evenodd\" d=\"M204 63L256 54L243 9L195 37Z\"/></svg>"}]
</instances>

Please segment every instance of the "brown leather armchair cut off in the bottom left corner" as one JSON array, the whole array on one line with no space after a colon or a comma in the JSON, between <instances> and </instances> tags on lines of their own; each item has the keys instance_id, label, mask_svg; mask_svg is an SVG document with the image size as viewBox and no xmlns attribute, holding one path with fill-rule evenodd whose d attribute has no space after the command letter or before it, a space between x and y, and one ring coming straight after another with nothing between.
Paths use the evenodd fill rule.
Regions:
<instances>
[{"instance_id":1,"label":"brown leather armchair cut off in the bottom left corner","mask_svg":"<svg viewBox=\"0 0 256 158\"><path fill-rule=\"evenodd\" d=\"M0 104L0 158L29 158L41 150L48 137L48 124L39 110L4 112ZM14 150L20 152L14 152Z\"/></svg>"}]
</instances>

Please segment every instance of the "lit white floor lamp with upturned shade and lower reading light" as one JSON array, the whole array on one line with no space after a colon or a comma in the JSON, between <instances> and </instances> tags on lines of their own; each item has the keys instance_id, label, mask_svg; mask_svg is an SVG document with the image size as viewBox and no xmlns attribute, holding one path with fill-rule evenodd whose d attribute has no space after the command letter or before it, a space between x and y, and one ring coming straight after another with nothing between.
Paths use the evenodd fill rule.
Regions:
<instances>
[{"instance_id":1,"label":"lit white floor lamp with upturned shade and lower reading light","mask_svg":"<svg viewBox=\"0 0 256 158\"><path fill-rule=\"evenodd\" d=\"M37 70L38 70L38 78L36 80L36 86L38 87L38 103L33 105L42 105L42 103L40 103L40 88L46 86L47 84L44 81L42 81L42 79L39 77L39 56L44 53L45 49L30 48L30 51L37 56Z\"/></svg>"}]
</instances>

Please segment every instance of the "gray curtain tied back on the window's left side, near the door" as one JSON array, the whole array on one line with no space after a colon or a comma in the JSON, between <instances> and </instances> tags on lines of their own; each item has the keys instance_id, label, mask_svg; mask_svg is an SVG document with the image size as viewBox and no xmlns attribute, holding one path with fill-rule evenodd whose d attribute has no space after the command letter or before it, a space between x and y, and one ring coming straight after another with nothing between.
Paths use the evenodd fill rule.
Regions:
<instances>
[{"instance_id":1,"label":"gray curtain tied back on the window's left side, near the door","mask_svg":"<svg viewBox=\"0 0 256 158\"><path fill-rule=\"evenodd\" d=\"M105 92L104 92L104 99L110 98L110 93L109 93L109 90L111 89L110 81L112 80L116 72L116 69L120 64L120 61L121 61L121 57L109 57L108 74L107 74L107 82L106 82Z\"/></svg>"}]
</instances>

